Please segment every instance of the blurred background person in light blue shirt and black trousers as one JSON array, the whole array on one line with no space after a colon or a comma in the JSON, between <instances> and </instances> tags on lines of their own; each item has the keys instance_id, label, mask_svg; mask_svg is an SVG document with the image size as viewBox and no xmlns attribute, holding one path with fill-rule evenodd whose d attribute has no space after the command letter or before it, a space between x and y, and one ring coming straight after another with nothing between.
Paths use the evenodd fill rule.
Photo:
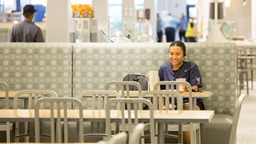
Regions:
<instances>
[{"instance_id":1,"label":"blurred background person in light blue shirt and black trousers","mask_svg":"<svg viewBox=\"0 0 256 144\"><path fill-rule=\"evenodd\" d=\"M175 40L175 33L179 23L178 18L174 18L172 14L168 14L165 21L166 42L173 42Z\"/></svg>"}]
</instances>

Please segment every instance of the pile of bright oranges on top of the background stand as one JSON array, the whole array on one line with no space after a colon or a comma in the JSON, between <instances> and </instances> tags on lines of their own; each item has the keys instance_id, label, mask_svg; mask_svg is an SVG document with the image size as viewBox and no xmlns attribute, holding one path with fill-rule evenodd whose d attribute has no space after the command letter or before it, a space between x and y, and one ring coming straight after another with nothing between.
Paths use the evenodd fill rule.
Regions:
<instances>
[{"instance_id":1,"label":"pile of bright oranges on top of the background stand","mask_svg":"<svg viewBox=\"0 0 256 144\"><path fill-rule=\"evenodd\" d=\"M90 5L71 5L73 18L94 18L94 8Z\"/></svg>"}]
</instances>

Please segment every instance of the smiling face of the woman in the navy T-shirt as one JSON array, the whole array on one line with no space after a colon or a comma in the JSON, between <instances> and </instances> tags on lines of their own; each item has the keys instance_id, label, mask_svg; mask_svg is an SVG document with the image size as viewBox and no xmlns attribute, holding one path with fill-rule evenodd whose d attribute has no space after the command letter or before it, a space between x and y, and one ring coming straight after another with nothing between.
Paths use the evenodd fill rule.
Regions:
<instances>
[{"instance_id":1,"label":"smiling face of the woman in the navy T-shirt","mask_svg":"<svg viewBox=\"0 0 256 144\"><path fill-rule=\"evenodd\" d=\"M170 62L172 63L173 66L182 65L182 61L184 58L184 52L182 50L182 47L170 46L169 58L170 58Z\"/></svg>"}]
</instances>

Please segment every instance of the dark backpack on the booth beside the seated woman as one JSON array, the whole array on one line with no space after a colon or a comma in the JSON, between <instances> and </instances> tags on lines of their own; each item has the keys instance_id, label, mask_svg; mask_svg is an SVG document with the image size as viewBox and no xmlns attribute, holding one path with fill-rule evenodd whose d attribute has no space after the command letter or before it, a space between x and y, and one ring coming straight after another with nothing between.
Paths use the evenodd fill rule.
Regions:
<instances>
[{"instance_id":1,"label":"dark backpack on the booth beside the seated woman","mask_svg":"<svg viewBox=\"0 0 256 144\"><path fill-rule=\"evenodd\" d=\"M142 86L142 90L149 90L148 78L142 74L127 74L122 81L138 82ZM138 90L135 86L130 86L130 90Z\"/></svg>"}]
</instances>

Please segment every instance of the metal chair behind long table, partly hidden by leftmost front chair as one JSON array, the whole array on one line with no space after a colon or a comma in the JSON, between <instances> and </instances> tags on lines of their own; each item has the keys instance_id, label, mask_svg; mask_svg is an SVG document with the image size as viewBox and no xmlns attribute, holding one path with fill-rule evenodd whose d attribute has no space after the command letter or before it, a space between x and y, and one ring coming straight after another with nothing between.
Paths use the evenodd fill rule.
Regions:
<instances>
[{"instance_id":1,"label":"metal chair behind long table, partly hidden by leftmost front chair","mask_svg":"<svg viewBox=\"0 0 256 144\"><path fill-rule=\"evenodd\" d=\"M42 97L54 97L57 98L58 94L56 94L53 90L19 90L17 94L14 96L14 109L34 109L34 102L36 102L39 98ZM25 141L29 142L29 138L34 136L34 129L31 122L23 122L24 123L24 133L19 134L19 125L22 122L15 122L15 142L19 142L20 138L26 138Z\"/></svg>"}]
</instances>

